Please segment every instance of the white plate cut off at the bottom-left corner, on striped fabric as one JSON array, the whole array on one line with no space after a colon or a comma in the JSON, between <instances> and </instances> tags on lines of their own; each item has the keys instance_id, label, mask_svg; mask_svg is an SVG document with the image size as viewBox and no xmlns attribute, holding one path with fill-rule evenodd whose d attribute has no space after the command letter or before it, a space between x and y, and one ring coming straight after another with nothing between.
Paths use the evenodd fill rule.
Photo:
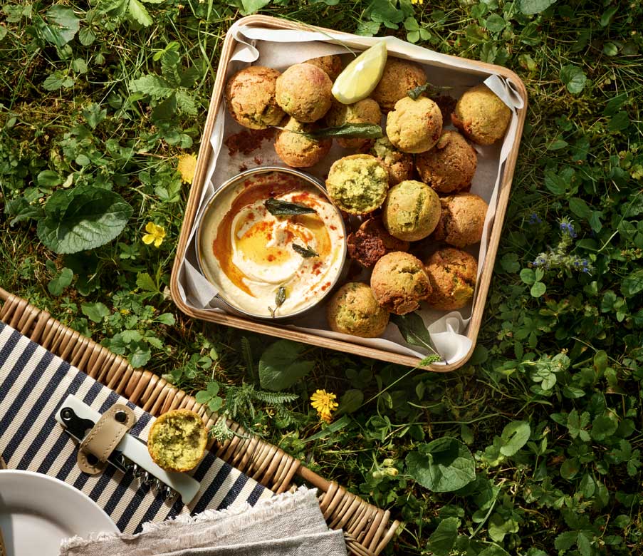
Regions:
<instances>
[{"instance_id":1,"label":"white plate cut off at the bottom-left corner, on striped fabric","mask_svg":"<svg viewBox=\"0 0 643 556\"><path fill-rule=\"evenodd\" d=\"M61 540L118 532L87 495L53 477L0 471L0 528L8 556L57 556Z\"/></svg>"}]
</instances>

